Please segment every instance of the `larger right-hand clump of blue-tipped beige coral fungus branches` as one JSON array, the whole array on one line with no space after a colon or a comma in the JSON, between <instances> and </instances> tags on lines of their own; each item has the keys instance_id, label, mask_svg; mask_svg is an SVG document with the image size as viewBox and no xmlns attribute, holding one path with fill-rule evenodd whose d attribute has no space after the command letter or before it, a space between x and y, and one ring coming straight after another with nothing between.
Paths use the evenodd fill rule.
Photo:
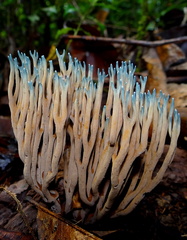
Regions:
<instances>
[{"instance_id":1,"label":"larger right-hand clump of blue-tipped beige coral fungus branches","mask_svg":"<svg viewBox=\"0 0 187 240\"><path fill-rule=\"evenodd\" d=\"M160 93L156 97L155 91L144 93L146 79L136 83L131 65L117 66L117 70L111 67L110 72L108 98L97 124L94 145L89 144L94 118L90 110L94 109L93 95L81 91L82 101L78 95L73 105L76 117L70 131L71 157L68 159L77 168L74 176L69 168L65 177L68 197L65 210L81 208L75 211L75 216L85 217L85 221L131 212L145 193L161 181L172 161L180 131L180 116L174 111L173 101L168 112L168 96ZM170 148L162 163L160 158L167 134L171 137ZM89 209L93 215L88 214Z\"/></svg>"}]
</instances>

